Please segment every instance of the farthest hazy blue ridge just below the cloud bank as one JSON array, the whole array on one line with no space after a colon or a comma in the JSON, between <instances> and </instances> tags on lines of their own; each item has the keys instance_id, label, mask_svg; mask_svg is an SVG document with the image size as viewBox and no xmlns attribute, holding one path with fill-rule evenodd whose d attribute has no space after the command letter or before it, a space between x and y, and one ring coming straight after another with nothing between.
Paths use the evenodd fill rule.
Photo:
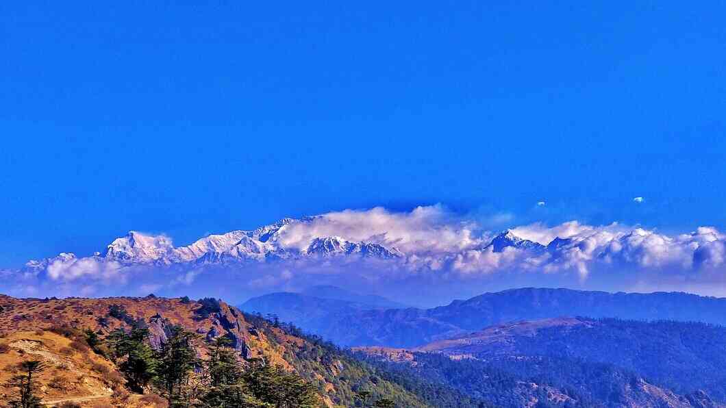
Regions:
<instances>
[{"instance_id":1,"label":"farthest hazy blue ridge just below the cloud bank","mask_svg":"<svg viewBox=\"0 0 726 408\"><path fill-rule=\"evenodd\" d=\"M299 300L304 307L295 307L304 310L303 314L285 312L285 305L291 304L288 301L280 298L280 303L275 298L266 298L264 302L256 301L254 306L256 311L276 313L281 319L341 346L410 348L501 322L561 316L726 324L726 298L689 293L606 293L527 287L484 293L433 309L364 310L352 303L340 306ZM242 307L250 310L246 303Z\"/></svg>"}]
</instances>

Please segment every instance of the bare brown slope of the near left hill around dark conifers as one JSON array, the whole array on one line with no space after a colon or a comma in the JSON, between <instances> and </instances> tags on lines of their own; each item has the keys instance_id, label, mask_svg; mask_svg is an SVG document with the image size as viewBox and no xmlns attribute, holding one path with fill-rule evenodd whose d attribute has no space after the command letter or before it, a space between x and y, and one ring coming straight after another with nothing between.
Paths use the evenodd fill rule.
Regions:
<instances>
[{"instance_id":1,"label":"bare brown slope of the near left hill around dark conifers","mask_svg":"<svg viewBox=\"0 0 726 408\"><path fill-rule=\"evenodd\" d=\"M12 375L14 364L39 359L50 367L40 378L44 401L60 402L70 398L85 404L84 407L99 404L107 399L101 397L110 395L113 378L119 376L113 363L90 350L72 349L69 346L71 339L49 330L68 325L78 330L91 329L104 336L120 327L131 328L134 321L139 320L148 325L152 346L166 340L171 326L181 325L205 340L227 336L245 359L264 358L287 370L294 370L294 367L286 356L309 346L306 340L287 335L270 325L256 326L245 319L241 311L221 301L155 297L19 299L0 295L0 350L4 350L0 353L0 370L3 370L0 381L4 383ZM204 346L198 352L203 356ZM96 363L105 364L108 372L94 366ZM65 370L63 367L72 368ZM104 373L94 372L94 367ZM52 385L54 379L53 384L64 385ZM325 383L323 386L328 395L335 396L333 385ZM8 393L9 389L0 388L0 399ZM328 395L323 396L324 400L332 406ZM139 396L132 396L129 401L134 398L138 400ZM134 406L131 402L127 404Z\"/></svg>"}]
</instances>

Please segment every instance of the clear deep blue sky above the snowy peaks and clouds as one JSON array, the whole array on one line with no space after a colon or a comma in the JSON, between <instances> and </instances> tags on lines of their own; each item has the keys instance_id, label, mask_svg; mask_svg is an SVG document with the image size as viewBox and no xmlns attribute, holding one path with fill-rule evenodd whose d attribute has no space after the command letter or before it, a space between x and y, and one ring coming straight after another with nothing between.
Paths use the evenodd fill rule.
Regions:
<instances>
[{"instance_id":1,"label":"clear deep blue sky above the snowy peaks and clouds","mask_svg":"<svg viewBox=\"0 0 726 408\"><path fill-rule=\"evenodd\" d=\"M0 266L374 205L726 227L721 2L150 3L0 4Z\"/></svg>"}]
</instances>

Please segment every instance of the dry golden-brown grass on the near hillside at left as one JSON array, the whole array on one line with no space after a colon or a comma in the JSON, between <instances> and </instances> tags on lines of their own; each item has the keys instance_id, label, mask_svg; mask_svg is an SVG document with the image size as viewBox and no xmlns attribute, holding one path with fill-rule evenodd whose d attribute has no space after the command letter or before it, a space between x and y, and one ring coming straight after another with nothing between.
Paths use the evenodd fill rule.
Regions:
<instances>
[{"instance_id":1,"label":"dry golden-brown grass on the near hillside at left","mask_svg":"<svg viewBox=\"0 0 726 408\"><path fill-rule=\"evenodd\" d=\"M123 391L123 375L84 340L83 329L94 330L103 337L115 329L129 328L129 322L110 317L109 308L113 305L120 306L130 319L144 322L160 315L171 325L198 333L201 339L210 332L233 335L244 342L250 358L264 357L288 370L293 367L285 361L285 351L294 351L306 343L275 328L270 329L276 338L272 341L264 330L253 330L240 311L224 302L219 303L219 314L200 317L195 314L200 303L179 298L18 299L0 295L0 384L13 375L20 362L39 359L47 367L38 378L44 401L60 404L62 399L78 397L89 399L69 402L83 408L166 407L166 401L158 396ZM160 329L150 325L150 330L153 333ZM205 356L204 346L199 351ZM0 385L0 401L7 400L9 391Z\"/></svg>"}]
</instances>

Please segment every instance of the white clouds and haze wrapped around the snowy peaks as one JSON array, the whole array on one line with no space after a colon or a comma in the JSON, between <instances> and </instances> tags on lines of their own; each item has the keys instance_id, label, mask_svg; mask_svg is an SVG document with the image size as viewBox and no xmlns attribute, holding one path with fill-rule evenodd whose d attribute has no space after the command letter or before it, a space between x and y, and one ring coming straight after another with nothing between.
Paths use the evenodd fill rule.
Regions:
<instances>
[{"instance_id":1,"label":"white clouds and haze wrapped around the snowy peaks","mask_svg":"<svg viewBox=\"0 0 726 408\"><path fill-rule=\"evenodd\" d=\"M522 239L549 245L544 250L506 247L494 252L494 248L487 247L494 234L483 226L506 226L514 220L509 213L461 216L441 205L418 207L409 212L385 208L337 211L311 221L288 224L274 237L275 242L257 243L302 249L315 237L338 236L354 242L396 247L404 256L391 260L344 257L253 260L247 264L219 266L225 271L220 275L219 271L210 270L214 266L194 262L134 265L123 258L77 258L72 253L62 253L44 261L31 261L26 269L9 275L6 280L17 288L12 289L13 293L28 293L27 289L20 288L33 287L36 293L62 290L69 295L156 290L186 294L200 287L264 291L305 287L333 277L351 285L436 279L506 281L522 276L541 277L545 284L559 282L560 277L576 277L582 284L594 277L614 280L617 276L637 281L639 285L643 282L660 285L659 282L673 279L674 282L688 280L694 287L707 287L708 282L726 280L726 234L715 227L664 234L617 223L590 225L577 220L556 225L534 223L513 227L510 231ZM132 248L127 240L115 242L129 253L143 250L144 258L155 259L158 253L176 250L171 239L163 235L153 239L142 235L133 238L138 241L138 248ZM542 280L537 283L542 285Z\"/></svg>"}]
</instances>

